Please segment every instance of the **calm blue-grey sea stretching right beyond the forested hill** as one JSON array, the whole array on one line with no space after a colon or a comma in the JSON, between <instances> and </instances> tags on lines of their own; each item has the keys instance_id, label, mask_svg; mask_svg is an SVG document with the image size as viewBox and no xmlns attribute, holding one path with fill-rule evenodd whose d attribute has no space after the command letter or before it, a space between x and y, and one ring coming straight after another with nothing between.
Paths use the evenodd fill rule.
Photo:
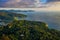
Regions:
<instances>
[{"instance_id":1,"label":"calm blue-grey sea stretching right beyond the forested hill","mask_svg":"<svg viewBox=\"0 0 60 40\"><path fill-rule=\"evenodd\" d=\"M17 12L26 14L23 18L30 21L41 21L48 24L49 28L60 30L60 12Z\"/></svg>"}]
</instances>

